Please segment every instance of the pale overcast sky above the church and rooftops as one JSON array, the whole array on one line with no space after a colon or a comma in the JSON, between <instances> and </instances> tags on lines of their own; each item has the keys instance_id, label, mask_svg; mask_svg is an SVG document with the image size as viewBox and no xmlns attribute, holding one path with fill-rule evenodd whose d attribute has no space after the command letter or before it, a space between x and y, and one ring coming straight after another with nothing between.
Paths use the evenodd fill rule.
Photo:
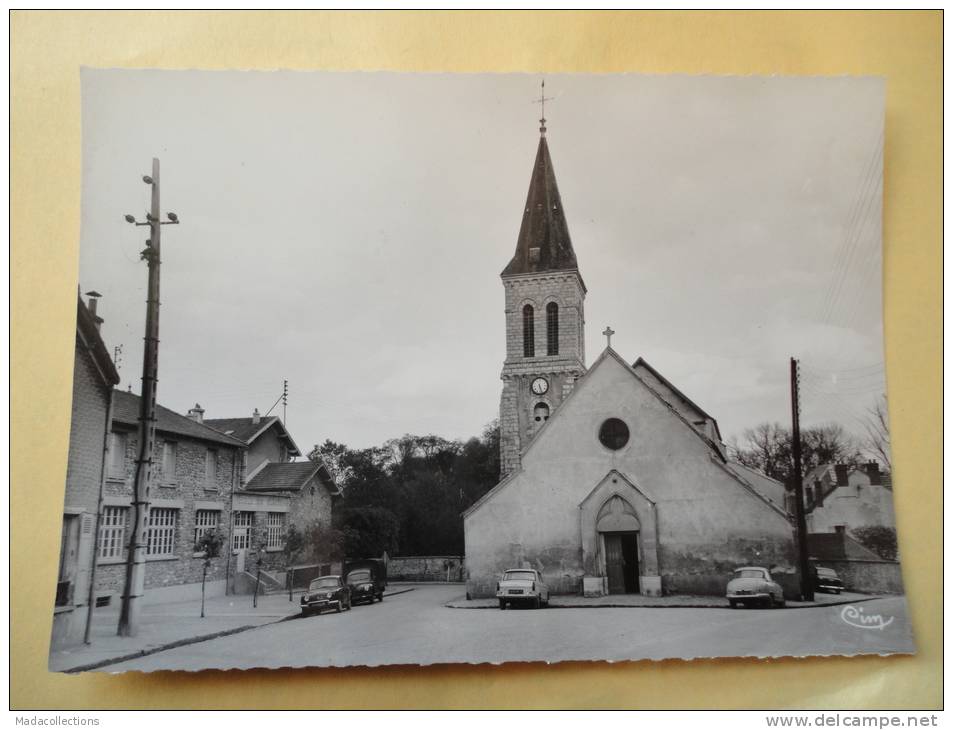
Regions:
<instances>
[{"instance_id":1,"label":"pale overcast sky above the church and rooftops","mask_svg":"<svg viewBox=\"0 0 953 730\"><path fill-rule=\"evenodd\" d=\"M158 398L263 413L307 450L478 434L498 415L499 273L539 76L83 71L80 285L138 392L162 161ZM638 356L726 438L857 418L883 392L877 79L554 75L548 138L588 287L586 347ZM280 407L279 407L280 409ZM280 414L280 413L279 413Z\"/></svg>"}]
</instances>

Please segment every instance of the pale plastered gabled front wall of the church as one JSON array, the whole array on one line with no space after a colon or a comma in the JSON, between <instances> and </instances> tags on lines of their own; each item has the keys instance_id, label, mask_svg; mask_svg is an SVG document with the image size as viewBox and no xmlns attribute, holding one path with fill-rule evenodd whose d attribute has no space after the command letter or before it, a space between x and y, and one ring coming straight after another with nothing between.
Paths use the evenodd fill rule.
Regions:
<instances>
[{"instance_id":1,"label":"pale plastered gabled front wall of the church","mask_svg":"<svg viewBox=\"0 0 953 730\"><path fill-rule=\"evenodd\" d=\"M609 417L629 427L629 441L618 451L598 440ZM731 572L744 565L793 570L787 517L739 482L671 407L609 353L540 432L522 469L466 514L470 596L493 595L507 568L534 567L557 593L580 592L589 571L604 575L601 541L594 527L583 534L581 505L612 470L624 477L613 487L620 496L654 505L640 519L657 521L651 532L663 593L723 595ZM648 526L643 531L648 534ZM594 551L589 565L584 551ZM640 556L641 565L651 562Z\"/></svg>"}]
</instances>

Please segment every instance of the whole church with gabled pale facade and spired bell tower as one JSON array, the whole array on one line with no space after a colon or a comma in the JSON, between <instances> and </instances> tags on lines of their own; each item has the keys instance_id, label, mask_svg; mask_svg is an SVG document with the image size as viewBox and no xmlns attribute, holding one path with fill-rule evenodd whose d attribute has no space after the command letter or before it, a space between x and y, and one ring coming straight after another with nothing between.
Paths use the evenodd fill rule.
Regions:
<instances>
[{"instance_id":1,"label":"whole church with gabled pale facade and spired bell tower","mask_svg":"<svg viewBox=\"0 0 953 730\"><path fill-rule=\"evenodd\" d=\"M553 593L724 595L769 568L796 592L784 487L729 460L717 421L639 358L588 368L586 285L540 120L516 253L503 270L501 481L464 513L467 595L508 568Z\"/></svg>"}]
</instances>

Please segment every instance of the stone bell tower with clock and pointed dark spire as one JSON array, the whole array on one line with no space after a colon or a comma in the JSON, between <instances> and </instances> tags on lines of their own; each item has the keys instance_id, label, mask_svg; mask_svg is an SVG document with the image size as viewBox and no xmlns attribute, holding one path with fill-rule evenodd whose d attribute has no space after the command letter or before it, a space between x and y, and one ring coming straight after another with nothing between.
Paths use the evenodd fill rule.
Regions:
<instances>
[{"instance_id":1,"label":"stone bell tower with clock and pointed dark spire","mask_svg":"<svg viewBox=\"0 0 953 730\"><path fill-rule=\"evenodd\" d=\"M506 303L501 478L519 468L527 444L586 372L586 285L556 187L545 117L539 132L516 253L500 275Z\"/></svg>"}]
</instances>

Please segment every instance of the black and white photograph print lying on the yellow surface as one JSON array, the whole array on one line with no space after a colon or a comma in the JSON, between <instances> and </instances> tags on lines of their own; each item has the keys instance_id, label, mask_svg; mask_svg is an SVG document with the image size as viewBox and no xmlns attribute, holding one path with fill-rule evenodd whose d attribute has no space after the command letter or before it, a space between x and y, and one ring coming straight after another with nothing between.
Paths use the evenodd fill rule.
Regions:
<instances>
[{"instance_id":1,"label":"black and white photograph print lying on the yellow surface","mask_svg":"<svg viewBox=\"0 0 953 730\"><path fill-rule=\"evenodd\" d=\"M81 80L51 671L916 653L884 79Z\"/></svg>"}]
</instances>

